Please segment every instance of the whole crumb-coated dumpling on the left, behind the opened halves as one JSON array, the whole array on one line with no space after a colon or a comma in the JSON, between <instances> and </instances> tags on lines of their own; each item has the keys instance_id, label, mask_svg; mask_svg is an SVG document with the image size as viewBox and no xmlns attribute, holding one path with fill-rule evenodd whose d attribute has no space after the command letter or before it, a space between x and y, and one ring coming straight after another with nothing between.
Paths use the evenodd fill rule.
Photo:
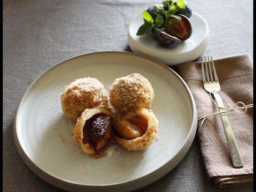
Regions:
<instances>
[{"instance_id":1,"label":"whole crumb-coated dumpling on the left, behind the opened halves","mask_svg":"<svg viewBox=\"0 0 256 192\"><path fill-rule=\"evenodd\" d=\"M109 100L103 84L96 78L81 78L65 86L61 94L64 114L73 121L87 108L108 106Z\"/></svg>"}]
</instances>

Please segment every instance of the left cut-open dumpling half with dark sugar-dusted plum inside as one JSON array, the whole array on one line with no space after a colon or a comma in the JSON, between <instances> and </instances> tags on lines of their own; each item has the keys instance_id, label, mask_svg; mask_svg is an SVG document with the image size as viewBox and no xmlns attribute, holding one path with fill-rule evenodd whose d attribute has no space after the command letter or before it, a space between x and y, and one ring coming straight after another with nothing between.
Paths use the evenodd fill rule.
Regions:
<instances>
[{"instance_id":1,"label":"left cut-open dumpling half with dark sugar-dusted plum inside","mask_svg":"<svg viewBox=\"0 0 256 192\"><path fill-rule=\"evenodd\" d=\"M106 150L112 140L114 114L106 106L86 109L76 120L73 136L86 154L97 154Z\"/></svg>"}]
</instances>

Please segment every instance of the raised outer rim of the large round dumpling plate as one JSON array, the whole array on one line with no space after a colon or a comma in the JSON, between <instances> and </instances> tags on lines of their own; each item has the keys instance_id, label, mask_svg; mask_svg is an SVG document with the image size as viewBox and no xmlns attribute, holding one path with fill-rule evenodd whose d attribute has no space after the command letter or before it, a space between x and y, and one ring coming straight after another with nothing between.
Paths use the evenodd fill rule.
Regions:
<instances>
[{"instance_id":1,"label":"raised outer rim of the large round dumpling plate","mask_svg":"<svg viewBox=\"0 0 256 192\"><path fill-rule=\"evenodd\" d=\"M17 114L19 112L20 106L22 104L22 101L24 99L24 96L28 93L28 91L32 88L32 86L38 81L39 78L41 78L44 74L46 74L48 71L52 70L53 68L55 68L56 66L59 66L60 64L67 62L69 60L73 60L79 57L83 57L83 56L88 56L88 55L92 55L92 54L108 54L108 53L116 53L116 54L130 54L130 55L134 55L137 57L141 57L147 60L151 60L154 63L164 67L166 70L168 70L169 72L171 72L172 74L174 74L174 76L176 76L176 78L178 78L178 80L182 83L182 85L184 86L184 88L186 89L186 92L188 93L188 96L190 98L190 102L192 104L192 122L189 128L189 132L188 135L186 136L186 139L184 141L184 143L182 144L182 147L180 148L180 150L170 159L168 160L168 162L166 162L166 164L164 164L163 166L159 167L158 169L151 171L150 173L138 177L138 178L134 178L132 180L129 181L124 181L124 182L118 182L118 183L114 183L114 184L81 184L81 183L75 183L75 182L71 182L68 180L64 180L62 178L58 178L57 176L54 176L53 174L47 172L46 170L42 169L40 166L36 165L32 159L30 159L30 157L28 156L28 154L26 154L25 150L22 148L21 144L20 144L20 139L18 138L18 134L17 134ZM59 62L58 64L55 64L54 66L50 67L48 70L44 71L42 74L40 74L26 89L26 92L24 92L24 94L22 95L18 106L16 108L16 112L14 114L14 121L13 121L13 135L14 135L14 142L16 144L16 148L20 154L20 156L22 157L22 160L24 160L24 162L26 163L26 165L40 178L42 178L43 180L45 180L46 182L48 182L49 184L52 184L53 186L57 187L57 188L61 188L63 190L68 190L68 191L77 191L79 189L90 189L90 190L95 190L96 191L106 191L106 190L111 190L111 189L116 189L116 187L122 187L122 186L131 186L131 184L133 184L133 188L132 189L127 189L124 191L131 191L131 190L136 190L139 188L142 188L144 186L147 186L153 182L155 182L156 180L159 180L160 178L162 178L164 175L166 175L167 173L169 173L174 167L176 167L180 161L184 158L184 156L186 155L186 153L188 152L190 146L192 145L192 142L194 140L195 134L196 134L196 128L197 128L197 110L196 110L196 103L194 101L194 97L190 91L190 89L188 88L186 82L171 68L169 68L167 65L165 65L162 62L159 62L153 58L149 58L147 56L143 56L140 54L136 54L134 52L127 52L127 51L116 51L116 50L110 50L110 51L97 51L97 52L89 52L86 54L80 54L78 56L74 56L71 58L68 58L66 60L62 60L61 62ZM188 143L189 142L189 143ZM178 163L176 163L174 166L170 164L170 161L172 161L172 159L177 158L180 153L184 151L184 155L182 155L182 157L178 158ZM170 164L170 165L169 165ZM164 167L166 167L166 169L164 169ZM163 172L163 174L159 174L160 172ZM152 178L152 180L148 181L148 177L153 175L154 177ZM160 176L159 176L160 175ZM135 184L134 182L141 180L140 182L137 182L137 184ZM144 181L144 182L142 182Z\"/></svg>"}]
</instances>

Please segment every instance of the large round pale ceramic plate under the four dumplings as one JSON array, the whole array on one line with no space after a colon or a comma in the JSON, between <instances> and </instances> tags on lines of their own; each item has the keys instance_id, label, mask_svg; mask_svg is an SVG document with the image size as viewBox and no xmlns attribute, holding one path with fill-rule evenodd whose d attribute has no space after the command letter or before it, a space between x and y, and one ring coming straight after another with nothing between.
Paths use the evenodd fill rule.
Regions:
<instances>
[{"instance_id":1,"label":"large round pale ceramic plate under the four dumplings","mask_svg":"<svg viewBox=\"0 0 256 192\"><path fill-rule=\"evenodd\" d=\"M159 139L143 152L110 146L99 159L73 143L74 122L61 110L60 92L78 78L94 77L106 90L118 77L140 73L151 82L152 110ZM173 70L130 52L95 52L61 62L39 76L22 97L14 119L14 139L26 164L42 179L67 191L131 191L172 170L195 136L197 113L185 82Z\"/></svg>"}]
</instances>

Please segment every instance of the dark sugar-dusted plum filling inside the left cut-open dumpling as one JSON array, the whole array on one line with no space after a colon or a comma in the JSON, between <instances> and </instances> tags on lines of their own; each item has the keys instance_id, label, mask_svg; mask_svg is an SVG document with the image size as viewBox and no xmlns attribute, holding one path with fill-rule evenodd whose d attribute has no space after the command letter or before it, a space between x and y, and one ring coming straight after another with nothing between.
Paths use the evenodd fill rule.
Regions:
<instances>
[{"instance_id":1,"label":"dark sugar-dusted plum filling inside the left cut-open dumpling","mask_svg":"<svg viewBox=\"0 0 256 192\"><path fill-rule=\"evenodd\" d=\"M100 113L86 120L83 128L83 144L89 143L96 152L108 146L112 138L114 118Z\"/></svg>"}]
</instances>

